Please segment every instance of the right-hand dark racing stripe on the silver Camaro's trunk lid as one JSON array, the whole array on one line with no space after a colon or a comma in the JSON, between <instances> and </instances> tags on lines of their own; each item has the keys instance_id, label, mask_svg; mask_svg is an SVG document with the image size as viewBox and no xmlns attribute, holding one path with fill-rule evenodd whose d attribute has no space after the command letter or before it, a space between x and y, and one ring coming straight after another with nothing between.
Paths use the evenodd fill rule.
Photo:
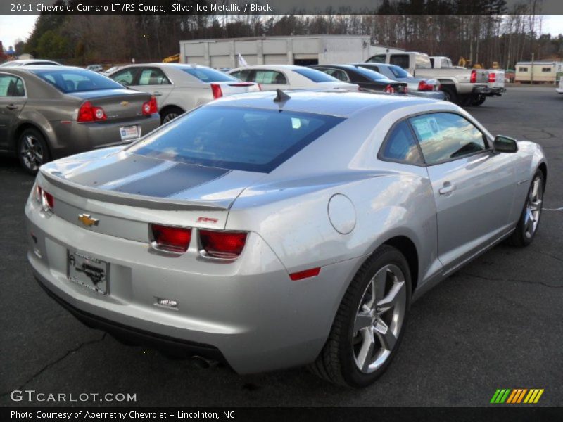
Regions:
<instances>
[{"instance_id":1,"label":"right-hand dark racing stripe on the silver Camaro's trunk lid","mask_svg":"<svg viewBox=\"0 0 563 422\"><path fill-rule=\"evenodd\" d=\"M230 170L216 167L201 167L198 165L178 163L167 170L131 181L128 184L116 186L112 190L116 192L133 193L135 195L165 198L217 179L217 177L221 177L229 171Z\"/></svg>"}]
</instances>

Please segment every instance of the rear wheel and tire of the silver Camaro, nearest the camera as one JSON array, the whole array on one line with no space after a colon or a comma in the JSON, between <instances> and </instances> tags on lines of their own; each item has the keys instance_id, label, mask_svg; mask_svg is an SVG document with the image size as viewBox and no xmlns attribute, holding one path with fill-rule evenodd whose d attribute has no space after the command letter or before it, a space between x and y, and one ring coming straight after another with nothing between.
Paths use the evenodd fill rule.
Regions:
<instances>
[{"instance_id":1,"label":"rear wheel and tire of the silver Camaro, nearest the camera","mask_svg":"<svg viewBox=\"0 0 563 422\"><path fill-rule=\"evenodd\" d=\"M382 300L377 300L378 293ZM403 338L410 294L407 260L396 248L381 246L354 276L327 343L309 370L349 388L374 383L391 363Z\"/></svg>"}]
</instances>

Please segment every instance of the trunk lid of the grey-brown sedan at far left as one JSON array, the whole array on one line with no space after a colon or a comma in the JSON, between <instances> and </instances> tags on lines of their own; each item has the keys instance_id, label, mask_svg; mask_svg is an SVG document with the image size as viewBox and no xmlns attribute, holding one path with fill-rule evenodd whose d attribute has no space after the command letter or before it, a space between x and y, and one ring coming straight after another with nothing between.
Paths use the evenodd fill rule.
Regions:
<instances>
[{"instance_id":1,"label":"trunk lid of the grey-brown sedan at far left","mask_svg":"<svg viewBox=\"0 0 563 422\"><path fill-rule=\"evenodd\" d=\"M104 89L72 93L82 101L89 101L94 107L106 112L106 122L138 119L142 115L143 103L151 99L151 94L132 89Z\"/></svg>"}]
</instances>

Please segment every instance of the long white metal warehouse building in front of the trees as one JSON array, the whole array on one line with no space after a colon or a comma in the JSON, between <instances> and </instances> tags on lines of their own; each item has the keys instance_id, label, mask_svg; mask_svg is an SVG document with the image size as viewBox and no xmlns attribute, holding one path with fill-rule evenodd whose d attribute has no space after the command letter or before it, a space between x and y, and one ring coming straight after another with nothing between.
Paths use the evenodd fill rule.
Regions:
<instances>
[{"instance_id":1,"label":"long white metal warehouse building in front of the trees","mask_svg":"<svg viewBox=\"0 0 563 422\"><path fill-rule=\"evenodd\" d=\"M196 39L180 41L180 62L236 68L241 54L248 65L322 65L358 62L377 53L400 51L372 45L369 37L359 35Z\"/></svg>"}]
</instances>

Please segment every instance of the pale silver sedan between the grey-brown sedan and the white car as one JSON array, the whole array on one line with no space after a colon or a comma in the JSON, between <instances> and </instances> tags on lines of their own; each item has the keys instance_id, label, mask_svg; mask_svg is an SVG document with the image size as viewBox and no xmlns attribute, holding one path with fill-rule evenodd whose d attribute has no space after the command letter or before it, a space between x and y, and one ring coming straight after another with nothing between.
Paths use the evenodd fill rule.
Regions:
<instances>
[{"instance_id":1,"label":"pale silver sedan between the grey-brown sedan and the white car","mask_svg":"<svg viewBox=\"0 0 563 422\"><path fill-rule=\"evenodd\" d=\"M241 82L219 70L182 63L128 65L108 76L156 96L163 123L215 98L260 90L258 84Z\"/></svg>"}]
</instances>

